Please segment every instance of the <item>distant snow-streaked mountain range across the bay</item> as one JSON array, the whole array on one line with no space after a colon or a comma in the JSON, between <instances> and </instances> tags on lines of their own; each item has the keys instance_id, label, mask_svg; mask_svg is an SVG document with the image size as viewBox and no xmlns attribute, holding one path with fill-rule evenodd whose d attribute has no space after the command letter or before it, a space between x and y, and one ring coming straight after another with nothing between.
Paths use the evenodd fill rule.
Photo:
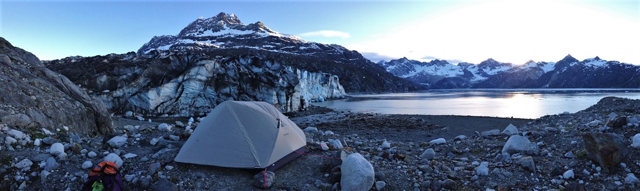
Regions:
<instances>
[{"instance_id":1,"label":"distant snow-streaked mountain range across the bay","mask_svg":"<svg viewBox=\"0 0 640 191\"><path fill-rule=\"evenodd\" d=\"M579 61L567 55L557 62L524 65L487 59L478 65L445 60L420 62L406 57L378 65L429 89L465 88L640 88L640 66L594 57Z\"/></svg>"}]
</instances>

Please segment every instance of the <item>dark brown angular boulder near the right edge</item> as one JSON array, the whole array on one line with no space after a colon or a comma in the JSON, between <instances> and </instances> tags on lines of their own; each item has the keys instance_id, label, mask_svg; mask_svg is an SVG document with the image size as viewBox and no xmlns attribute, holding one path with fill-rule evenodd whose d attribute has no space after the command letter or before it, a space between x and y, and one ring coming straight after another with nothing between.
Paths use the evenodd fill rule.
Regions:
<instances>
[{"instance_id":1,"label":"dark brown angular boulder near the right edge","mask_svg":"<svg viewBox=\"0 0 640 191\"><path fill-rule=\"evenodd\" d=\"M587 156L608 173L627 156L628 141L623 135L589 132L582 135Z\"/></svg>"}]
</instances>

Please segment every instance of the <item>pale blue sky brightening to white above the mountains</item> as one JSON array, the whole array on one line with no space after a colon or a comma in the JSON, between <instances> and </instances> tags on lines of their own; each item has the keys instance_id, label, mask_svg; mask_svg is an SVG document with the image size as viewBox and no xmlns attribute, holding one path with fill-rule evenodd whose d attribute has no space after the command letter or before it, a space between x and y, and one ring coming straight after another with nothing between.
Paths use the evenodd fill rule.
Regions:
<instances>
[{"instance_id":1,"label":"pale blue sky brightening to white above the mountains","mask_svg":"<svg viewBox=\"0 0 640 191\"><path fill-rule=\"evenodd\" d=\"M640 65L640 0L0 0L0 36L42 60L122 54L220 12L339 44L374 62L493 58L523 64L571 54Z\"/></svg>"}]
</instances>

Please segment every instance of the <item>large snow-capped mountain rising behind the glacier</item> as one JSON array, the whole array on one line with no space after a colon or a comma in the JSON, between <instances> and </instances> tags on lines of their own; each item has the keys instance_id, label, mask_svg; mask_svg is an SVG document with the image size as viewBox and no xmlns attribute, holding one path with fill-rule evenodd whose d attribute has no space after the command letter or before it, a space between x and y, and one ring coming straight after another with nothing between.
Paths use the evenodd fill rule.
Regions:
<instances>
[{"instance_id":1,"label":"large snow-capped mountain rising behind the glacier","mask_svg":"<svg viewBox=\"0 0 640 191\"><path fill-rule=\"evenodd\" d=\"M278 59L282 64L300 70L337 75L346 91L426 89L388 73L355 50L307 42L292 34L273 31L262 22L243 24L234 14L219 13L208 19L200 17L177 35L154 36L138 50L138 54L150 54L153 50Z\"/></svg>"}]
</instances>

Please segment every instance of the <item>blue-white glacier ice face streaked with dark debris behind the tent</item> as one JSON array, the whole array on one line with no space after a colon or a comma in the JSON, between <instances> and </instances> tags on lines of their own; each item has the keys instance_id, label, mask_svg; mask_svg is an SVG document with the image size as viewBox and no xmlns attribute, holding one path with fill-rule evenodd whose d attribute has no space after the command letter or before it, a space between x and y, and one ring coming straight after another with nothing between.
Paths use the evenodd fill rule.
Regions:
<instances>
[{"instance_id":1,"label":"blue-white glacier ice face streaked with dark debris behind the tent","mask_svg":"<svg viewBox=\"0 0 640 191\"><path fill-rule=\"evenodd\" d=\"M90 67L67 70L67 75L85 73L74 82L92 90L108 109L118 112L194 116L225 100L268 102L282 112L291 112L305 109L310 102L346 96L336 75L298 70L260 56L166 52L118 56L109 60L116 64L104 70L93 70L104 65L101 58L75 59ZM69 62L63 59L53 65L67 66Z\"/></svg>"}]
</instances>

